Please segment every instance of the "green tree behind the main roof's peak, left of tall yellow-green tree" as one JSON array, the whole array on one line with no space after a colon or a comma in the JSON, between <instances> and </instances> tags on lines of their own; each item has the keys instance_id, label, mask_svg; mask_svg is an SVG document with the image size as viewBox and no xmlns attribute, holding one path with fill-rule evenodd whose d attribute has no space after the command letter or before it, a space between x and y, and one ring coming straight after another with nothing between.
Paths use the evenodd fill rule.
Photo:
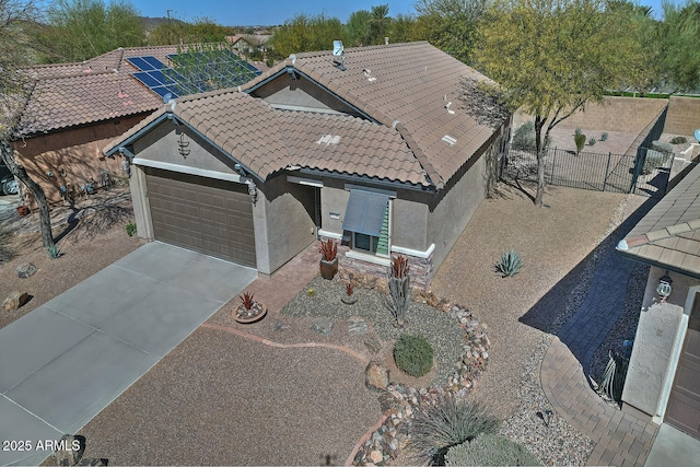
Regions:
<instances>
[{"instance_id":1,"label":"green tree behind the main roof's peak, left of tall yellow-green tree","mask_svg":"<svg viewBox=\"0 0 700 467\"><path fill-rule=\"evenodd\" d=\"M475 34L488 4L488 0L418 0L415 38L471 65Z\"/></svg>"}]
</instances>

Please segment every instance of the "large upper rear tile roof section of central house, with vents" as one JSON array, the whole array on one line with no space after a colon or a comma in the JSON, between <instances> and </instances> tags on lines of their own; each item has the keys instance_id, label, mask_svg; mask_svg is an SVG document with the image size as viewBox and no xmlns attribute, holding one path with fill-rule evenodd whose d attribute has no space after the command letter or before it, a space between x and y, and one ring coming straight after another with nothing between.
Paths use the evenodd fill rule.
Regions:
<instances>
[{"instance_id":1,"label":"large upper rear tile roof section of central house, with vents","mask_svg":"<svg viewBox=\"0 0 700 467\"><path fill-rule=\"evenodd\" d=\"M492 128L464 112L459 91L464 79L487 78L428 43L346 49L346 71L332 61L330 51L298 54L243 87L255 93L293 67L376 121L397 127L436 186L455 175L493 135ZM456 143L443 141L446 135Z\"/></svg>"}]
</instances>

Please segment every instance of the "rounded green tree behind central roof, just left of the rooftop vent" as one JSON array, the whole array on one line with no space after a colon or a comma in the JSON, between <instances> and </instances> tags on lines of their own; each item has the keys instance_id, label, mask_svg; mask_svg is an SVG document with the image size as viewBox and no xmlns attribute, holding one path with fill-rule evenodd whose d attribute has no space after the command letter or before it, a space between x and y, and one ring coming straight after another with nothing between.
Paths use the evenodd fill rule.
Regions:
<instances>
[{"instance_id":1,"label":"rounded green tree behind central roof, just left of the rooftop vent","mask_svg":"<svg viewBox=\"0 0 700 467\"><path fill-rule=\"evenodd\" d=\"M334 40L346 42L346 30L337 17L323 14L308 16L298 14L288 20L276 32L270 42L275 56L287 58L290 54L311 50L329 50Z\"/></svg>"}]
</instances>

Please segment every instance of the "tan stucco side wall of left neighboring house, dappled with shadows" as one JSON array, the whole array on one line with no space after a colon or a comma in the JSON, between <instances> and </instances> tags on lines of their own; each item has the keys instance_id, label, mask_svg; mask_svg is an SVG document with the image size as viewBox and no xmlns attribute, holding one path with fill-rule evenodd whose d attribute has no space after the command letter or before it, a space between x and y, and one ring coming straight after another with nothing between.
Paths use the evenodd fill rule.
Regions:
<instances>
[{"instance_id":1,"label":"tan stucco side wall of left neighboring house, dappled with shadows","mask_svg":"<svg viewBox=\"0 0 700 467\"><path fill-rule=\"evenodd\" d=\"M44 188L49 203L59 203L63 202L61 185L70 184L79 188L91 178L100 180L104 170L109 171L113 177L125 176L121 157L101 159L102 148L143 117L144 115L139 115L40 135L16 141L13 148L30 176ZM47 175L49 171L54 176ZM31 208L36 206L27 192L24 198Z\"/></svg>"}]
</instances>

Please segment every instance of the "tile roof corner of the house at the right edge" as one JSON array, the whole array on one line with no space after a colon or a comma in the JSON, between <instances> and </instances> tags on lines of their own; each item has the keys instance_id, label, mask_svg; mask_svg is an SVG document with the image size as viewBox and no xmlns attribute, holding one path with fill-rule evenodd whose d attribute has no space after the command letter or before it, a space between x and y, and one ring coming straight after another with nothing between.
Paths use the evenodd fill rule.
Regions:
<instances>
[{"instance_id":1,"label":"tile roof corner of the house at the right edge","mask_svg":"<svg viewBox=\"0 0 700 467\"><path fill-rule=\"evenodd\" d=\"M644 215L617 249L700 279L700 164Z\"/></svg>"}]
</instances>

